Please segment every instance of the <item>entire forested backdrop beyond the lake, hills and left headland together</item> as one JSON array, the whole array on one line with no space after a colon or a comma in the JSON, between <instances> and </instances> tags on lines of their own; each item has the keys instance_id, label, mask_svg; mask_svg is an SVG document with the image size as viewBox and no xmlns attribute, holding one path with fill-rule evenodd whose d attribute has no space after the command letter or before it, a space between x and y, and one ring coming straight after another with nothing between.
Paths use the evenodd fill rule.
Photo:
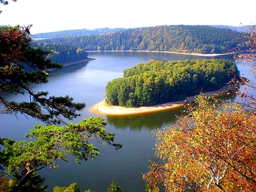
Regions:
<instances>
[{"instance_id":1,"label":"entire forested backdrop beyond the lake, hills and left headland together","mask_svg":"<svg viewBox=\"0 0 256 192\"><path fill-rule=\"evenodd\" d=\"M54 62L86 59L87 51L148 50L176 53L227 53L241 44L242 32L213 26L154 26L136 29L72 30L38 34L32 47L50 50ZM67 35L66 38L56 38Z\"/></svg>"}]
</instances>

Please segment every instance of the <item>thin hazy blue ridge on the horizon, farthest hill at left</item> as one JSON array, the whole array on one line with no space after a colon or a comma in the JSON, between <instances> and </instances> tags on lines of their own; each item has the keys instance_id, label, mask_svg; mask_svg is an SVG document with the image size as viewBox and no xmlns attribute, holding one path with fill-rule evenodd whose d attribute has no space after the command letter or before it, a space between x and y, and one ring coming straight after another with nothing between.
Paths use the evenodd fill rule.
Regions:
<instances>
[{"instance_id":1,"label":"thin hazy blue ridge on the horizon, farthest hill at left","mask_svg":"<svg viewBox=\"0 0 256 192\"><path fill-rule=\"evenodd\" d=\"M32 38L73 38L82 35L97 35L102 33L108 32L116 32L120 31L123 28L101 28L101 29L74 29L74 30L66 30L61 32L45 32L45 33L38 33L32 36Z\"/></svg>"}]
</instances>

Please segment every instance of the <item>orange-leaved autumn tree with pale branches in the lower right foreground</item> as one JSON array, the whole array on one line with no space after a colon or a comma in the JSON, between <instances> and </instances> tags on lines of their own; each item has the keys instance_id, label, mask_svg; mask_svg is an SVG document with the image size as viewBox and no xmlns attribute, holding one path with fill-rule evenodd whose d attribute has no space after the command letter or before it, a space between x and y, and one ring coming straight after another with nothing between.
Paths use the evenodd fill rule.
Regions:
<instances>
[{"instance_id":1,"label":"orange-leaved autumn tree with pale branches in the lower right foreground","mask_svg":"<svg viewBox=\"0 0 256 192\"><path fill-rule=\"evenodd\" d=\"M155 152L144 175L151 191L254 191L256 115L239 103L218 105L199 96L188 115L156 130Z\"/></svg>"}]
</instances>

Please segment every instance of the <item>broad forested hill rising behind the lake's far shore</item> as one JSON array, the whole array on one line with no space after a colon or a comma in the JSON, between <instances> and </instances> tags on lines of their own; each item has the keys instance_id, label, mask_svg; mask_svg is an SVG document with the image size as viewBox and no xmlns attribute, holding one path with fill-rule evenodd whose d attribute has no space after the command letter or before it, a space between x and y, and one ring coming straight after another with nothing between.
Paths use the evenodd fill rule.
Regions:
<instances>
[{"instance_id":1,"label":"broad forested hill rising behind the lake's far shore","mask_svg":"<svg viewBox=\"0 0 256 192\"><path fill-rule=\"evenodd\" d=\"M99 35L43 39L84 50L151 50L178 53L227 53L241 44L241 32L212 26L154 26Z\"/></svg>"}]
</instances>

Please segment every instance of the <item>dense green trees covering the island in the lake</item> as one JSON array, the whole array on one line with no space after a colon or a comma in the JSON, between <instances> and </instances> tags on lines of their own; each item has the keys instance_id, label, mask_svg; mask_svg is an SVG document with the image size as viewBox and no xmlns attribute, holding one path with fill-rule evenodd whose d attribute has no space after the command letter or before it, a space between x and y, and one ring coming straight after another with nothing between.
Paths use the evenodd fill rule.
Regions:
<instances>
[{"instance_id":1,"label":"dense green trees covering the island in the lake","mask_svg":"<svg viewBox=\"0 0 256 192\"><path fill-rule=\"evenodd\" d=\"M109 105L138 107L180 101L200 92L217 90L234 77L236 64L228 59L195 59L140 63L123 71L123 78L108 82Z\"/></svg>"}]
</instances>

